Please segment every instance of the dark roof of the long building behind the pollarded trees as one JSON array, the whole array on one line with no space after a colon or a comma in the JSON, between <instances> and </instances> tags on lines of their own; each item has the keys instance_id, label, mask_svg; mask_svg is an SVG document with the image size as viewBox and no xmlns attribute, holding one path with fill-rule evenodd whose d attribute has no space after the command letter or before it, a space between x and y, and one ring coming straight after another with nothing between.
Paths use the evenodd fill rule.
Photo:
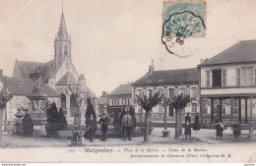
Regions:
<instances>
[{"instance_id":1,"label":"dark roof of the long building behind the pollarded trees","mask_svg":"<svg viewBox=\"0 0 256 166\"><path fill-rule=\"evenodd\" d=\"M134 85L140 84L160 84L160 83L199 83L199 73L197 68L178 69L166 71L153 71L137 80Z\"/></svg>"}]
</instances>

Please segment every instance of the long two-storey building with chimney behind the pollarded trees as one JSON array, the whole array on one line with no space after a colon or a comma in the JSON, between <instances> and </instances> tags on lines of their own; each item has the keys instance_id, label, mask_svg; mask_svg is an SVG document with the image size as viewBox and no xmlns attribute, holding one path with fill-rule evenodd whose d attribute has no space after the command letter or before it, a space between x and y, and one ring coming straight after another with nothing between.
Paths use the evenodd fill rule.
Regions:
<instances>
[{"instance_id":1,"label":"long two-storey building with chimney behind the pollarded trees","mask_svg":"<svg viewBox=\"0 0 256 166\"><path fill-rule=\"evenodd\" d=\"M199 112L199 75L196 68L155 71L154 64L149 66L149 72L141 79L133 83L133 97L145 94L154 95L157 91L163 93L165 97L173 97L178 94L188 94L192 102L183 110L183 114ZM142 108L135 104L135 112L140 113ZM168 106L168 117L175 114L173 106ZM151 111L152 117L163 117L163 107L161 104L154 107Z\"/></svg>"}]
</instances>

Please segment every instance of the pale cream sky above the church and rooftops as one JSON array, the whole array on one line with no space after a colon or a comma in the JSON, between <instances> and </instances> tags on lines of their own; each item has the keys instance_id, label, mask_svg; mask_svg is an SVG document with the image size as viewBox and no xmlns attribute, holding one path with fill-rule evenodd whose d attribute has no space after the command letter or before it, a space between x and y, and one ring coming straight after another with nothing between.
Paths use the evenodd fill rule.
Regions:
<instances>
[{"instance_id":1,"label":"pale cream sky above the church and rooftops","mask_svg":"<svg viewBox=\"0 0 256 166\"><path fill-rule=\"evenodd\" d=\"M200 59L211 58L239 40L256 39L256 0L207 1L207 35L188 58L169 54L161 43L161 0L63 3L72 61L96 96L140 79L151 60L158 71L194 68ZM61 0L0 0L0 69L4 75L12 76L16 59L53 59L61 10Z\"/></svg>"}]
</instances>

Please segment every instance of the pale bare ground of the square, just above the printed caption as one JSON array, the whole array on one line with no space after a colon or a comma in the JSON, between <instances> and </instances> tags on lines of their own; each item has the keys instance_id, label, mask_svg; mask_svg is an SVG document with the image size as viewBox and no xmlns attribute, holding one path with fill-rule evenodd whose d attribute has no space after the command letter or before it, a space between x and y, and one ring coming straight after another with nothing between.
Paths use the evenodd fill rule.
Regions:
<instances>
[{"instance_id":1,"label":"pale bare ground of the square, just above the printed caption","mask_svg":"<svg viewBox=\"0 0 256 166\"><path fill-rule=\"evenodd\" d=\"M225 143L256 143L256 138L248 140L248 130L243 130L239 140L235 140L229 131L224 131L223 139L216 139L216 131L211 129L201 129L200 131L192 130L192 138L185 139L182 136L179 140L174 139L174 129L170 128L170 135L168 138L161 137L162 128L155 128L150 137L151 144L225 144ZM132 138L132 140L124 141L121 138L108 138L106 141L99 141L98 138L94 142L90 142L83 138L82 146L115 146L115 145L140 145L143 144L143 137ZM3 141L0 143L1 147L68 147L72 146L70 139L64 138L25 138L19 136L4 135Z\"/></svg>"}]
</instances>

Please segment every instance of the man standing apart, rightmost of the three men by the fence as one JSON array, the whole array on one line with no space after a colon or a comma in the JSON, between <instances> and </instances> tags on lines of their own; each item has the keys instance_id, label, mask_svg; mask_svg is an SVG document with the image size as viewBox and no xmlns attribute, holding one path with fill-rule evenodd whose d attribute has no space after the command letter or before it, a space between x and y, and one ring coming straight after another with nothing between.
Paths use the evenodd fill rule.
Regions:
<instances>
[{"instance_id":1,"label":"man standing apart, rightmost of the three men by the fence","mask_svg":"<svg viewBox=\"0 0 256 166\"><path fill-rule=\"evenodd\" d=\"M132 140L131 133L133 127L133 118L129 115L129 110L126 108L125 115L122 118L122 127L123 127L123 137L126 140L126 136L128 135L129 140Z\"/></svg>"}]
</instances>

